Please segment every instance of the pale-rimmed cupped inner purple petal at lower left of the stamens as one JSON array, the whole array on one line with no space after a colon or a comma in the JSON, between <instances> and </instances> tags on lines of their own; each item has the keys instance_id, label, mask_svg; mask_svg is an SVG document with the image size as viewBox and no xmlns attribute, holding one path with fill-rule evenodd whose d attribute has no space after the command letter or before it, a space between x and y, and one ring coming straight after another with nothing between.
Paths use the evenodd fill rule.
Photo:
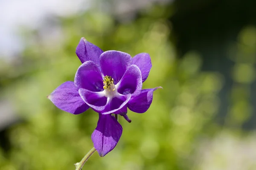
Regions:
<instances>
[{"instance_id":1,"label":"pale-rimmed cupped inner purple petal at lower left of the stamens","mask_svg":"<svg viewBox=\"0 0 256 170\"><path fill-rule=\"evenodd\" d=\"M84 102L96 112L101 112L107 105L107 97L105 97L104 91L94 92L80 88L79 94Z\"/></svg>"}]
</instances>

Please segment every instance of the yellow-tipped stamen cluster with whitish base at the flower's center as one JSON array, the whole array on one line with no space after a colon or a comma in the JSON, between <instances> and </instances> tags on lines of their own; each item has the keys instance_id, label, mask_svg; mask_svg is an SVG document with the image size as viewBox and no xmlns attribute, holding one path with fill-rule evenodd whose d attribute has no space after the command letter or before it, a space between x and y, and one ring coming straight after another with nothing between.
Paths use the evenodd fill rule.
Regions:
<instances>
[{"instance_id":1,"label":"yellow-tipped stamen cluster with whitish base at the flower's center","mask_svg":"<svg viewBox=\"0 0 256 170\"><path fill-rule=\"evenodd\" d=\"M111 76L104 77L103 85L106 97L113 98L117 95L116 86L114 85L114 79Z\"/></svg>"}]
</instances>

